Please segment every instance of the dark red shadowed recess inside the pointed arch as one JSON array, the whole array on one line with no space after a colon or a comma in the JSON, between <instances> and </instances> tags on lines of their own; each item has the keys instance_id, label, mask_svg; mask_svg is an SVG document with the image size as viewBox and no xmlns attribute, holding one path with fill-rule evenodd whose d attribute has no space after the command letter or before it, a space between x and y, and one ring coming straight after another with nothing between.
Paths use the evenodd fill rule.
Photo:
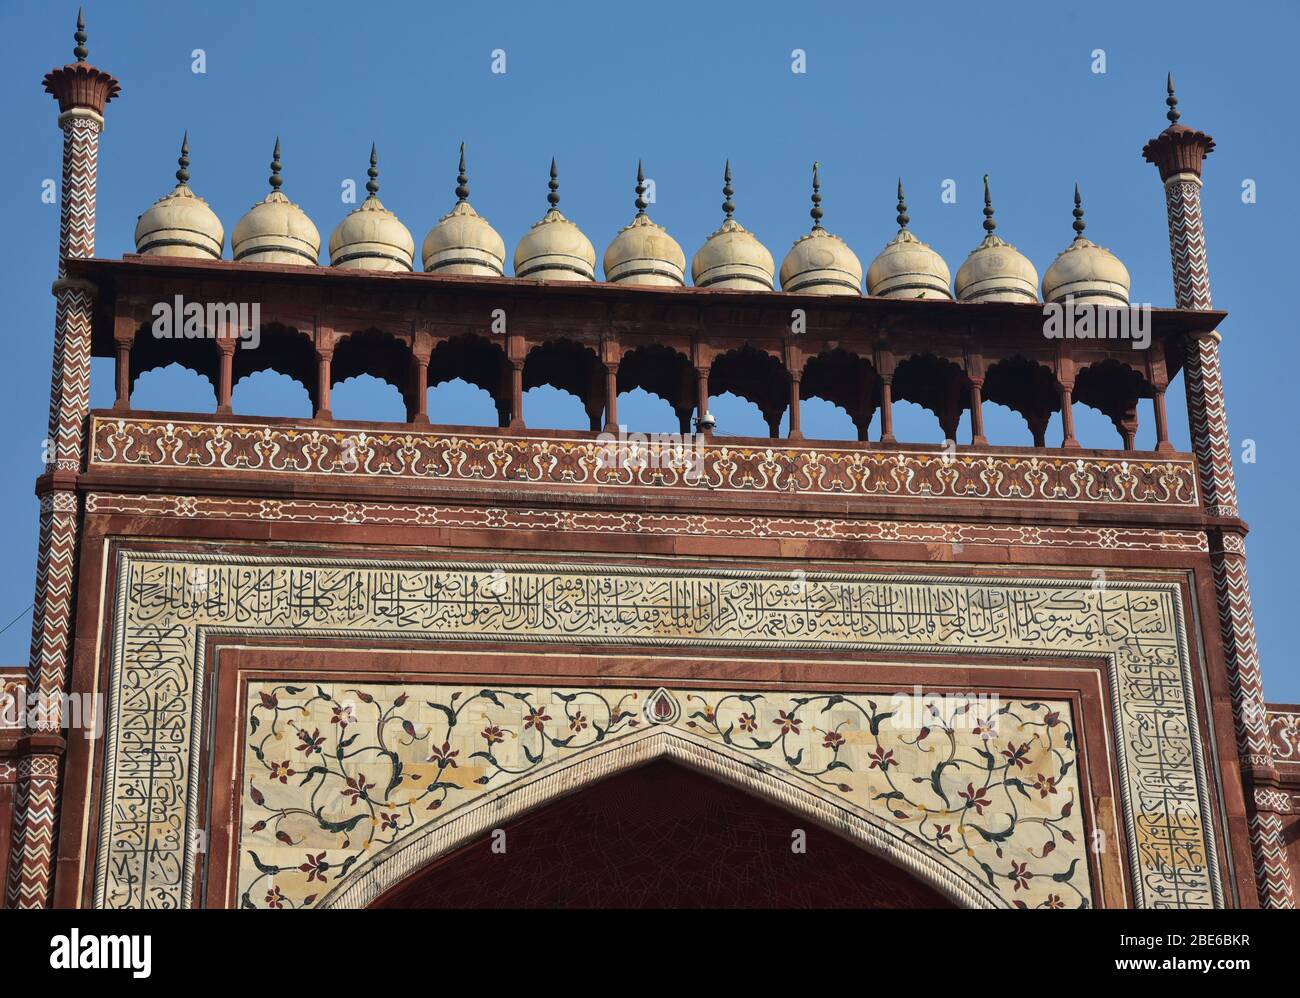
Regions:
<instances>
[{"instance_id":1,"label":"dark red shadowed recess inside the pointed arch","mask_svg":"<svg viewBox=\"0 0 1300 998\"><path fill-rule=\"evenodd\" d=\"M498 847L494 849L494 845ZM372 908L940 908L952 901L770 800L660 759L481 836Z\"/></svg>"}]
</instances>

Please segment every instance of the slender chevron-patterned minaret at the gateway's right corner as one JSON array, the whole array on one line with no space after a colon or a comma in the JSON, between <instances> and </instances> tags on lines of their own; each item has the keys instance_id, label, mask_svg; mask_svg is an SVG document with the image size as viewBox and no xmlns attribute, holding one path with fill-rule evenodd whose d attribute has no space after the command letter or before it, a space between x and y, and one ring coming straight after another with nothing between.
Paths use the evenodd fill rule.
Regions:
<instances>
[{"instance_id":1,"label":"slender chevron-patterned minaret at the gateway's right corner","mask_svg":"<svg viewBox=\"0 0 1300 998\"><path fill-rule=\"evenodd\" d=\"M1213 308L1205 227L1201 221L1201 168L1214 139L1180 125L1174 75L1166 83L1169 127L1143 148L1165 185L1169 252L1174 264L1174 299L1179 308ZM1223 405L1219 334L1190 335L1183 364L1192 448L1200 469L1205 512L1222 522L1208 531L1214 595L1219 608L1223 658L1232 693L1236 746L1247 794L1254 797L1251 839L1260 904L1294 908L1295 889L1287 873L1277 767L1265 726L1264 684L1254 642L1251 586L1245 573L1245 525L1238 517L1232 442ZM1282 804L1279 804L1282 802Z\"/></svg>"}]
</instances>

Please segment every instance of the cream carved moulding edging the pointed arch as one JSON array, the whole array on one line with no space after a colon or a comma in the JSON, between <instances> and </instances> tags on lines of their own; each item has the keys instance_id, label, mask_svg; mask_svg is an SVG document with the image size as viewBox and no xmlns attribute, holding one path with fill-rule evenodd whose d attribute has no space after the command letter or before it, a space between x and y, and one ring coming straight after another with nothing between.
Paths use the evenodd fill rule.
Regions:
<instances>
[{"instance_id":1,"label":"cream carved moulding edging the pointed arch","mask_svg":"<svg viewBox=\"0 0 1300 998\"><path fill-rule=\"evenodd\" d=\"M429 863L491 829L566 794L658 760L694 769L806 817L910 873L954 904L1008 907L987 882L905 829L842 798L820 797L775 769L757 767L751 758L734 748L670 726L645 728L593 747L575 759L538 767L499 791L450 811L442 820L425 825L358 865L316 907L364 908Z\"/></svg>"}]
</instances>

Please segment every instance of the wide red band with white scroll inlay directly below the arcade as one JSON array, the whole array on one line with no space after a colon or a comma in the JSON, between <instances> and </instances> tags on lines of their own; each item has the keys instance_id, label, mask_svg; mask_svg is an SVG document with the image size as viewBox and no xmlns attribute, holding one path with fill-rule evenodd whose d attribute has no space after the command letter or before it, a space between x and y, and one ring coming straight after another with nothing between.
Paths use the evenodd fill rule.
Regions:
<instances>
[{"instance_id":1,"label":"wide red band with white scroll inlay directly below the arcade","mask_svg":"<svg viewBox=\"0 0 1300 998\"><path fill-rule=\"evenodd\" d=\"M1190 455L956 455L772 441L647 443L611 455L597 439L318 425L91 418L90 467L328 474L463 486L593 486L680 494L930 496L1196 508Z\"/></svg>"}]
</instances>

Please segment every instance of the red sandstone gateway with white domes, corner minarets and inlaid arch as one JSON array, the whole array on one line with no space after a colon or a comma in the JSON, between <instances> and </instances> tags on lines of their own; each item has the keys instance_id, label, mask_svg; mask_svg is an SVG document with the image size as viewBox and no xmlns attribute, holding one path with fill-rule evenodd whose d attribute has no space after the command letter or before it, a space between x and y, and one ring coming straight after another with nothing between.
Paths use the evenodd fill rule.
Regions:
<instances>
[{"instance_id":1,"label":"red sandstone gateway with white domes, corner minarets and inlaid arch","mask_svg":"<svg viewBox=\"0 0 1300 998\"><path fill-rule=\"evenodd\" d=\"M0 739L9 906L1294 907L1300 708L1262 703L1201 227L1214 143L1179 123L1173 81L1144 156L1178 307L1143 314L1134 350L1044 335L987 185L956 299L901 185L862 295L816 169L781 291L732 218L729 164L696 287L644 175L597 282L554 164L529 277L504 277L464 159L415 272L373 151L317 266L278 143L233 261L187 144L139 252L95 259L120 87L77 38L46 77L65 135L55 439L32 659L8 682L52 707ZM1078 196L1075 220L1044 290L1127 305ZM182 325L155 335L172 301ZM240 301L256 352L238 309L220 318ZM109 411L87 411L91 356L116 359ZM217 386L214 416L131 408L173 361ZM268 368L311 420L231 412ZM1180 370L1195 454L1165 425ZM400 387L406 422L332 418L359 373ZM458 377L498 428L430 425L428 387ZM538 385L581 398L590 433L526 428ZM637 387L680 439L620 435ZM714 431L727 391L771 438ZM805 398L859 439L803 439ZM970 442L896 441L898 399L949 438L968 412ZM984 400L1035 446L989 443ZM1080 402L1121 450L1079 447ZM68 737L60 704L91 694L104 737Z\"/></svg>"}]
</instances>

